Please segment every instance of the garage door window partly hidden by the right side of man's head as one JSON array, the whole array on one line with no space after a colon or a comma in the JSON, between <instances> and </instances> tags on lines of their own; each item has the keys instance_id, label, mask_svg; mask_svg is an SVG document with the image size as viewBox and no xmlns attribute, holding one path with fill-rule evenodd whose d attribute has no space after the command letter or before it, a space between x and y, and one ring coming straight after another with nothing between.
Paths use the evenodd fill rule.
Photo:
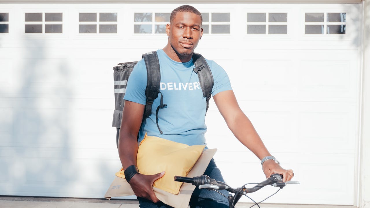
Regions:
<instances>
[{"instance_id":1,"label":"garage door window partly hidden by the right side of man's head","mask_svg":"<svg viewBox=\"0 0 370 208\"><path fill-rule=\"evenodd\" d=\"M230 34L230 13L202 13L203 33Z\"/></svg>"}]
</instances>

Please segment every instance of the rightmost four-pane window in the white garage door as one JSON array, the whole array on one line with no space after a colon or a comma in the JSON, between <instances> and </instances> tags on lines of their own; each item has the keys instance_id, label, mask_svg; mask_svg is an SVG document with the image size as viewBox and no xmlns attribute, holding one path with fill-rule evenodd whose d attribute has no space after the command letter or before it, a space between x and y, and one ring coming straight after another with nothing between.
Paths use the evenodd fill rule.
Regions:
<instances>
[{"instance_id":1,"label":"rightmost four-pane window in the white garage door","mask_svg":"<svg viewBox=\"0 0 370 208\"><path fill-rule=\"evenodd\" d=\"M346 13L305 13L305 34L346 34Z\"/></svg>"}]
</instances>

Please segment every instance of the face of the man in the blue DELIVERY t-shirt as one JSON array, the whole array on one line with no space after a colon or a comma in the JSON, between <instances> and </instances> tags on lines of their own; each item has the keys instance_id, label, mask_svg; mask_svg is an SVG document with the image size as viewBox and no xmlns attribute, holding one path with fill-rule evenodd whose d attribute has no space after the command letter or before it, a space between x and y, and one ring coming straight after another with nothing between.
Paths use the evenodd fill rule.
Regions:
<instances>
[{"instance_id":1,"label":"face of the man in the blue DELIVERY t-shirt","mask_svg":"<svg viewBox=\"0 0 370 208\"><path fill-rule=\"evenodd\" d=\"M202 37L201 16L190 12L178 12L171 25L166 25L169 42L176 54L181 57L190 55Z\"/></svg>"}]
</instances>

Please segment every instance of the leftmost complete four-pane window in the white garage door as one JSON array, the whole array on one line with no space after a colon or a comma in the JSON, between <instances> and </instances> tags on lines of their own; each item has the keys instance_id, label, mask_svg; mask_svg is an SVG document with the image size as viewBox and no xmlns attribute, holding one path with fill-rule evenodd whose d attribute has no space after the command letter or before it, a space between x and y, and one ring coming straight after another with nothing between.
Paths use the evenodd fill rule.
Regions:
<instances>
[{"instance_id":1,"label":"leftmost complete four-pane window in the white garage door","mask_svg":"<svg viewBox=\"0 0 370 208\"><path fill-rule=\"evenodd\" d=\"M63 33L63 13L26 13L25 33Z\"/></svg>"}]
</instances>

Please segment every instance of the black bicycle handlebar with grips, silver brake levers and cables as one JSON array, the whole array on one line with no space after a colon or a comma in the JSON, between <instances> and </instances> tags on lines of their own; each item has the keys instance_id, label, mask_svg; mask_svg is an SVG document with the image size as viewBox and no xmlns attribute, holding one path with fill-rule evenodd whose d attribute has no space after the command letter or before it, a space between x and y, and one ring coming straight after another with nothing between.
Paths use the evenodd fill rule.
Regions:
<instances>
[{"instance_id":1,"label":"black bicycle handlebar with grips, silver brake levers and cables","mask_svg":"<svg viewBox=\"0 0 370 208\"><path fill-rule=\"evenodd\" d=\"M230 208L235 208L235 204L239 201L242 195L245 195L246 197L248 197L246 194L258 191L262 187L265 187L266 185L272 185L273 187L280 187L280 188L275 193L273 193L272 195L270 195L269 197L265 198L264 200L258 203L252 200L252 198L248 197L250 200L252 200L255 203L250 208L252 208L255 205L257 205L260 208L260 206L258 205L259 203L275 195L278 191L280 191L287 184L300 184L299 181L283 182L283 176L280 174L272 174L270 178L266 179L265 181L262 181L261 183L247 183L247 184L244 184L240 188L231 188L229 185L221 181L216 181L215 179L210 178L208 175L201 175L201 176L196 176L193 178L175 176L174 181L191 183L195 185L196 187L198 187L199 189L207 188L208 190L214 190L229 200ZM245 186L249 184L257 184L257 185L255 185L252 188L246 188ZM225 196L224 194L222 194L221 192L217 190L226 190L226 191L233 193L234 195L229 194L228 196Z\"/></svg>"}]
</instances>

